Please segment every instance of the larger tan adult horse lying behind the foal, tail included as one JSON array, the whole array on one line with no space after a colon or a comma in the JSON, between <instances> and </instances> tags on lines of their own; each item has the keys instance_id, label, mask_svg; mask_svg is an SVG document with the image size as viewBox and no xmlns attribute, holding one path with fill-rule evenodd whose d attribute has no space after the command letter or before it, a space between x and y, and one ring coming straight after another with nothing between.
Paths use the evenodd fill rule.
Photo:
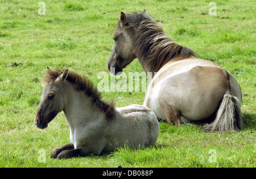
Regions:
<instances>
[{"instance_id":1,"label":"larger tan adult horse lying behind the foal, tail included","mask_svg":"<svg viewBox=\"0 0 256 179\"><path fill-rule=\"evenodd\" d=\"M144 71L151 72L143 105L158 118L178 126L181 117L212 119L204 125L207 131L241 129L242 95L234 76L173 42L145 11L121 12L113 39L109 70L119 74L138 58Z\"/></svg>"}]
</instances>

